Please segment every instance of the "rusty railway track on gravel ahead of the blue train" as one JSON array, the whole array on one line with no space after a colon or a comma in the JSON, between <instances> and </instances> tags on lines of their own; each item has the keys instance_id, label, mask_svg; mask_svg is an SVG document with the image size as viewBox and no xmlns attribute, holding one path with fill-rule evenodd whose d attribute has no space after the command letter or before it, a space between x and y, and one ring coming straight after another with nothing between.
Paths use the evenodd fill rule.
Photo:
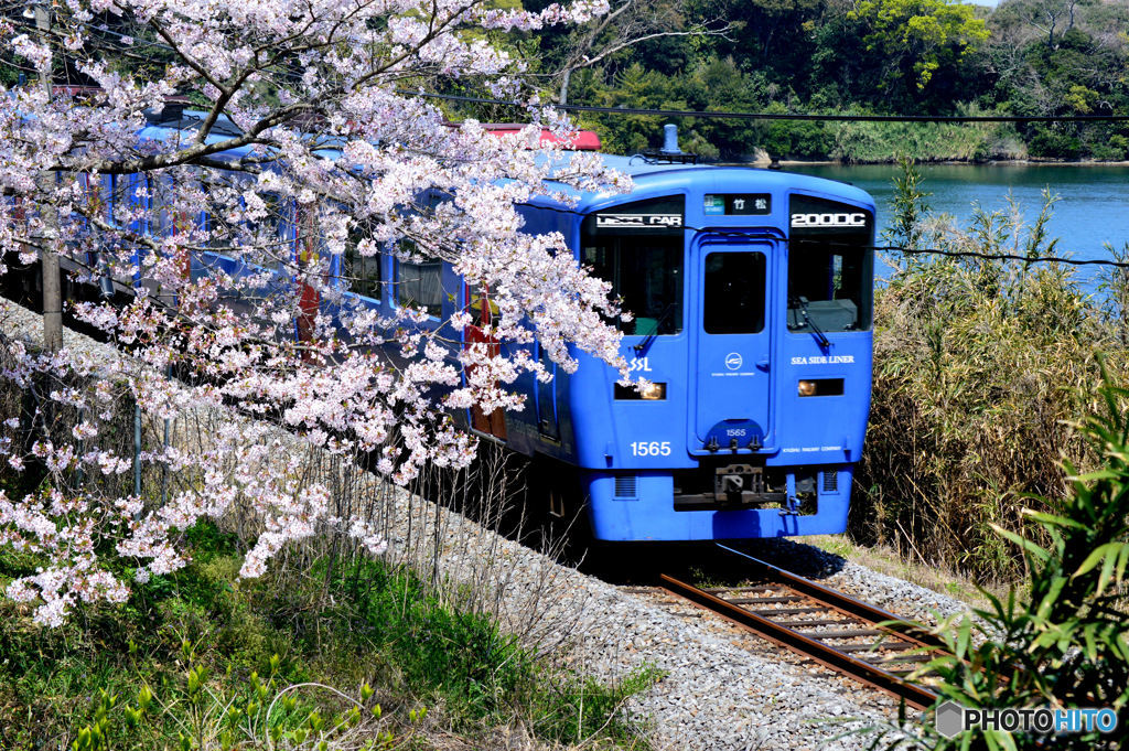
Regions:
<instances>
[{"instance_id":1,"label":"rusty railway track on gravel ahead of the blue train","mask_svg":"<svg viewBox=\"0 0 1129 751\"><path fill-rule=\"evenodd\" d=\"M699 588L660 575L669 593L838 673L926 709L937 699L927 684L909 681L921 663L944 652L925 627L796 576L725 545L741 556L751 584Z\"/></svg>"}]
</instances>

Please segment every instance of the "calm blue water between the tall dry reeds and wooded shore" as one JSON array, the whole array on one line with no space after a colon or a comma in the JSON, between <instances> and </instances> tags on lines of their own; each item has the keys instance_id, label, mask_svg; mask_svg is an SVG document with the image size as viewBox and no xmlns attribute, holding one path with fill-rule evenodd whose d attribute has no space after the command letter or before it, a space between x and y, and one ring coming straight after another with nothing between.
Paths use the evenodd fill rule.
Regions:
<instances>
[{"instance_id":1,"label":"calm blue water between the tall dry reeds and wooded shore","mask_svg":"<svg viewBox=\"0 0 1129 751\"><path fill-rule=\"evenodd\" d=\"M893 213L893 178L896 165L809 165L789 167L820 177L840 180L870 193L878 204L878 230ZM1103 245L1129 243L1129 167L1071 165L920 165L922 189L934 213L948 213L966 226L973 204L982 209L1007 209L1007 197L1018 201L1026 221L1039 216L1045 187L1059 197L1048 224L1050 237L1060 238L1056 255L1109 259ZM879 239L879 243L882 241ZM1097 267L1080 267L1092 279Z\"/></svg>"}]
</instances>

